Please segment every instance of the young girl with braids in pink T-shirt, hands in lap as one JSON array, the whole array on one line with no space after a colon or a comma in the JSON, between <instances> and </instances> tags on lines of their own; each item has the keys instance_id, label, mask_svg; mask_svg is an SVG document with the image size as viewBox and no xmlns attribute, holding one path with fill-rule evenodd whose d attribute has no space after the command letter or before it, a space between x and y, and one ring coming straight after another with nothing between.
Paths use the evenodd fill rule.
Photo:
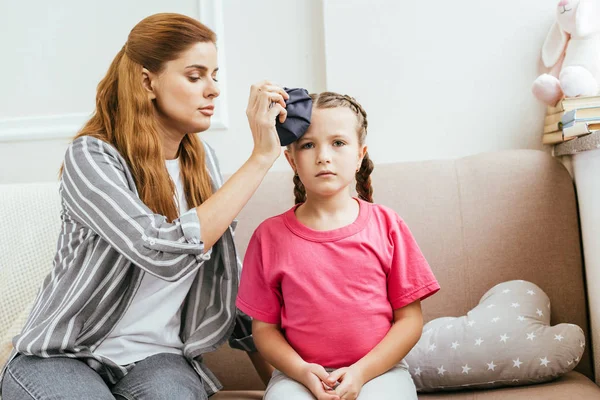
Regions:
<instances>
[{"instance_id":1,"label":"young girl with braids in pink T-shirt, hands in lap","mask_svg":"<svg viewBox=\"0 0 600 400\"><path fill-rule=\"evenodd\" d=\"M310 127L285 152L296 206L254 232L237 298L277 369L265 399L416 399L403 358L439 285L403 220L372 204L363 108L311 97Z\"/></svg>"}]
</instances>

